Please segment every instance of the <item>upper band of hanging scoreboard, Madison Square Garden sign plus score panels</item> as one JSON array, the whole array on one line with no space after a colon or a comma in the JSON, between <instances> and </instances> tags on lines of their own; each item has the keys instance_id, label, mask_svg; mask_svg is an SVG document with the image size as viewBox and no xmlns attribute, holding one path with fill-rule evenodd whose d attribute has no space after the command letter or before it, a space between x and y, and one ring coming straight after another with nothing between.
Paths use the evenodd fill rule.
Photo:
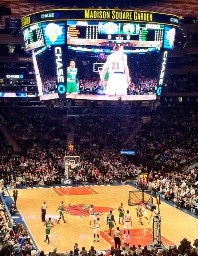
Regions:
<instances>
[{"instance_id":1,"label":"upper band of hanging scoreboard, Madison Square Garden sign plus score panels","mask_svg":"<svg viewBox=\"0 0 198 256\"><path fill-rule=\"evenodd\" d=\"M48 31L44 23L48 25ZM105 47L117 42L125 47L172 49L178 23L178 16L155 12L57 9L37 12L22 18L22 30L28 52L50 44L49 35L56 40L61 35L61 42L65 44L65 38L67 44L71 45ZM165 35L165 32L168 34ZM169 41L172 43L166 44Z\"/></svg>"}]
</instances>

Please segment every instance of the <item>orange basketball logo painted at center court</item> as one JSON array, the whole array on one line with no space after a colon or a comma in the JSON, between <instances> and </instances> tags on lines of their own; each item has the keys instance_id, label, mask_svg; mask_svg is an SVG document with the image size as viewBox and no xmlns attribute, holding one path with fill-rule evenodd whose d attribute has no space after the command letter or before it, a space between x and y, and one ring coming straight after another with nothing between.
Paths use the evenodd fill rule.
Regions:
<instances>
[{"instance_id":1,"label":"orange basketball logo painted at center court","mask_svg":"<svg viewBox=\"0 0 198 256\"><path fill-rule=\"evenodd\" d=\"M90 204L69 204L68 206L64 207L64 211L70 213L73 216L80 216L80 217L87 217L89 216L89 207ZM103 206L95 206L95 216L101 216L103 212L113 211L114 208L110 207L103 207Z\"/></svg>"}]
</instances>

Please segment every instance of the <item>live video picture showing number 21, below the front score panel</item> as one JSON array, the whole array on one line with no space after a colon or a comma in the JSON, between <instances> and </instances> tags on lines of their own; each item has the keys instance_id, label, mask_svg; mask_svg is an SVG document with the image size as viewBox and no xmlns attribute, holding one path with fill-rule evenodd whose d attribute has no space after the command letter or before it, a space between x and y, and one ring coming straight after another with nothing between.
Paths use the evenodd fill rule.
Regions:
<instances>
[{"instance_id":1,"label":"live video picture showing number 21, below the front score panel","mask_svg":"<svg viewBox=\"0 0 198 256\"><path fill-rule=\"evenodd\" d=\"M109 53L93 54L70 48L68 58L67 98L156 100L159 95L160 50L125 53L115 45Z\"/></svg>"}]
</instances>

